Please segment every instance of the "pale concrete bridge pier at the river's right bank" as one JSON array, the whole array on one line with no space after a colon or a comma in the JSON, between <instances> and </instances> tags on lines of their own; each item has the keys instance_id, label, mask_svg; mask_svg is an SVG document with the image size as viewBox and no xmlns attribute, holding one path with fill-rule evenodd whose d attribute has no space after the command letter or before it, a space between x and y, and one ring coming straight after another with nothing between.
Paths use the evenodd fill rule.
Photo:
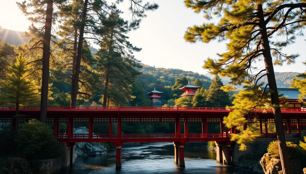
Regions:
<instances>
[{"instance_id":1,"label":"pale concrete bridge pier at the river's right bank","mask_svg":"<svg viewBox=\"0 0 306 174\"><path fill-rule=\"evenodd\" d=\"M225 165L233 165L231 144L225 141L216 141L217 162Z\"/></svg>"}]
</instances>

